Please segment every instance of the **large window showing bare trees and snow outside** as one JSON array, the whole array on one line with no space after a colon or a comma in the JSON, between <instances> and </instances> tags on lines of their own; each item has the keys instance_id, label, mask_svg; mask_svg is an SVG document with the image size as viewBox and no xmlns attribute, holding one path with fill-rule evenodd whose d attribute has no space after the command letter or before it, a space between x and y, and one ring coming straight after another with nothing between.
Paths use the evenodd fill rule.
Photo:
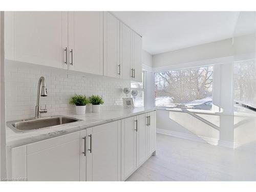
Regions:
<instances>
[{"instance_id":1,"label":"large window showing bare trees and snow outside","mask_svg":"<svg viewBox=\"0 0 256 192\"><path fill-rule=\"evenodd\" d=\"M155 73L155 105L212 109L213 66Z\"/></svg>"}]
</instances>

